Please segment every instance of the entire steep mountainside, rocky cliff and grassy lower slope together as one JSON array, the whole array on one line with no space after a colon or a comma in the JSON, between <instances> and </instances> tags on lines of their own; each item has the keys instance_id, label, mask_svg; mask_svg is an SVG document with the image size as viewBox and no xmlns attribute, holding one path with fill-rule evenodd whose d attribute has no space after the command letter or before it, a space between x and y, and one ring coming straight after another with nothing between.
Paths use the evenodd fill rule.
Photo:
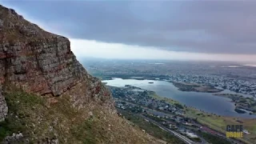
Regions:
<instances>
[{"instance_id":1,"label":"entire steep mountainside, rocky cliff and grassy lower slope together","mask_svg":"<svg viewBox=\"0 0 256 144\"><path fill-rule=\"evenodd\" d=\"M4 143L154 143L118 117L67 38L1 5L0 120Z\"/></svg>"}]
</instances>

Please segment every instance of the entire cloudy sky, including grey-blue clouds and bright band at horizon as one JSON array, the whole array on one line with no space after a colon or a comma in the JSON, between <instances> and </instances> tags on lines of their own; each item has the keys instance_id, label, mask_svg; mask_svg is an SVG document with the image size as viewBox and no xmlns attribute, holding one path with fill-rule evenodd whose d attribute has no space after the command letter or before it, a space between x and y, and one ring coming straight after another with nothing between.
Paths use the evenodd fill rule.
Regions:
<instances>
[{"instance_id":1,"label":"entire cloudy sky, including grey-blue clouds and bright band at horizon","mask_svg":"<svg viewBox=\"0 0 256 144\"><path fill-rule=\"evenodd\" d=\"M24 18L71 41L79 58L256 62L254 1L9 0Z\"/></svg>"}]
</instances>

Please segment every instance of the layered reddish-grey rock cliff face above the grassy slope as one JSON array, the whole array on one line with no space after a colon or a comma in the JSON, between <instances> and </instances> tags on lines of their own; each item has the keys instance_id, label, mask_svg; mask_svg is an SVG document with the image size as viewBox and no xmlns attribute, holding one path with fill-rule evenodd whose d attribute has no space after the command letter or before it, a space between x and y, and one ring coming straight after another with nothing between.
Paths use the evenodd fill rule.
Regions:
<instances>
[{"instance_id":1,"label":"layered reddish-grey rock cliff face above the grassy slope","mask_svg":"<svg viewBox=\"0 0 256 144\"><path fill-rule=\"evenodd\" d=\"M0 6L0 86L14 84L26 92L59 96L86 82L90 87L84 90L104 93L101 99L111 101L102 83L87 74L76 60L67 38L50 34L14 10ZM1 95L0 102L4 103ZM0 110L1 118L6 108Z\"/></svg>"}]
</instances>

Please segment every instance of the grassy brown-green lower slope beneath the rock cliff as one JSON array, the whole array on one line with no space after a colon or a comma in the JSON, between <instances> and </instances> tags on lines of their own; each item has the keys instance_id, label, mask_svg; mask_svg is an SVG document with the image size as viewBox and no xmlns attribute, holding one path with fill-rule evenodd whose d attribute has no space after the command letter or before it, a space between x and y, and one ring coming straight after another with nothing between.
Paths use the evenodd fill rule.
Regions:
<instances>
[{"instance_id":1,"label":"grassy brown-green lower slope beneath the rock cliff","mask_svg":"<svg viewBox=\"0 0 256 144\"><path fill-rule=\"evenodd\" d=\"M18 143L154 143L154 140L131 126L125 119L102 106L78 108L70 98L40 97L22 90L5 94L8 118L0 123L0 142L13 133L22 133Z\"/></svg>"}]
</instances>

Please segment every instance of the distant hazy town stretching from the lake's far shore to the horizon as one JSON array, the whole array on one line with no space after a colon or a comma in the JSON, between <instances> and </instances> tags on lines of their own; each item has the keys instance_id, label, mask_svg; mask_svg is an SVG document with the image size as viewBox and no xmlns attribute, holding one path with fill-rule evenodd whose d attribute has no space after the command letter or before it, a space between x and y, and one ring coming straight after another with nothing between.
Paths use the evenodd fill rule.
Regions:
<instances>
[{"instance_id":1,"label":"distant hazy town stretching from the lake's far shore to the horizon","mask_svg":"<svg viewBox=\"0 0 256 144\"><path fill-rule=\"evenodd\" d=\"M159 79L194 82L256 97L256 68L226 62L87 60L90 74L99 78Z\"/></svg>"}]
</instances>

